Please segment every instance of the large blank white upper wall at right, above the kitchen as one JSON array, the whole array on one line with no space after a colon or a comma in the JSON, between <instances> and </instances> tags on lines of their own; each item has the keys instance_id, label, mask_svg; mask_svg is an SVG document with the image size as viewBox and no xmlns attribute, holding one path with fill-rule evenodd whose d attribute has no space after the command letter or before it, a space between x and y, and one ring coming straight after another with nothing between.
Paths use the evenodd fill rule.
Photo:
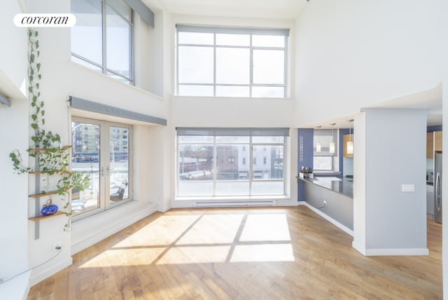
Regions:
<instances>
[{"instance_id":1,"label":"large blank white upper wall at right, above the kitchen","mask_svg":"<svg viewBox=\"0 0 448 300\"><path fill-rule=\"evenodd\" d=\"M309 1L295 31L297 125L349 116L437 86L436 4Z\"/></svg>"}]
</instances>

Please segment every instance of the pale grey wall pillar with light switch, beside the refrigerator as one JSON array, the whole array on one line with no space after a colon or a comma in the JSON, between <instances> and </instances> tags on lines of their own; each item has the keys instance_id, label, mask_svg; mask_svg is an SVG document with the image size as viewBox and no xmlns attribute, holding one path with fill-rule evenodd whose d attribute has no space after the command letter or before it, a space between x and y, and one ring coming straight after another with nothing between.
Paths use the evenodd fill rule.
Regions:
<instances>
[{"instance_id":1,"label":"pale grey wall pillar with light switch, beside the refrigerator","mask_svg":"<svg viewBox=\"0 0 448 300\"><path fill-rule=\"evenodd\" d=\"M422 175L426 171L426 111L365 109L365 125L359 123L353 151L357 220L353 246L366 255L428 254ZM359 132L358 125L365 132ZM402 191L402 184L412 184L414 191ZM358 231L365 231L365 236Z\"/></svg>"}]
</instances>

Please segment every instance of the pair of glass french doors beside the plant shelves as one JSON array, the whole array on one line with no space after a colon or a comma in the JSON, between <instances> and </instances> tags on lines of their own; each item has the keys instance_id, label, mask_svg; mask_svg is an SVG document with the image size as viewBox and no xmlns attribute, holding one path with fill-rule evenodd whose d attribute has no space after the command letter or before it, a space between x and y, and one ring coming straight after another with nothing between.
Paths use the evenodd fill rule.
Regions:
<instances>
[{"instance_id":1,"label":"pair of glass french doors beside the plant shelves","mask_svg":"<svg viewBox=\"0 0 448 300\"><path fill-rule=\"evenodd\" d=\"M132 199L132 125L72 118L73 219Z\"/></svg>"}]
</instances>

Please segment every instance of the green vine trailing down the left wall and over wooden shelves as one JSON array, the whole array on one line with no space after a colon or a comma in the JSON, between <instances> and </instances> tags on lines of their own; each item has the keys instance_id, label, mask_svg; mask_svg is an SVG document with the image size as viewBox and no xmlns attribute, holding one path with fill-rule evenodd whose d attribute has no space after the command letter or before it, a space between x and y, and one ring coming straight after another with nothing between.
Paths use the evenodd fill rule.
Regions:
<instances>
[{"instance_id":1,"label":"green vine trailing down the left wall and over wooden shelves","mask_svg":"<svg viewBox=\"0 0 448 300\"><path fill-rule=\"evenodd\" d=\"M71 172L69 172L69 149L71 146L62 146L61 137L57 133L43 129L45 124L45 103L41 100L40 81L41 63L38 57L41 54L39 49L38 32L34 29L28 30L28 81L29 81L29 105L30 105L30 126L34 130L31 136L31 144L27 149L28 156L35 158L34 168L23 165L20 151L14 150L9 154L13 162L13 170L18 174L35 173L46 175L45 189L41 194L45 195L50 188L50 175L59 175L56 183L57 195L63 196L65 200L64 209L69 217L64 225L64 231L70 228L71 205L69 202L69 192L71 189ZM51 205L51 197L48 199Z\"/></svg>"}]
</instances>

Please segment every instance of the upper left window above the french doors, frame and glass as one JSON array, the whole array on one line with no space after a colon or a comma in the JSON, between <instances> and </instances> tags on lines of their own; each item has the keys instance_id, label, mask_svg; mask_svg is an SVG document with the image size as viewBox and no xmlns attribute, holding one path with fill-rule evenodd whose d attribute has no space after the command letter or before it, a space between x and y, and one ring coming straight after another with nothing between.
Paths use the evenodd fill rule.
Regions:
<instances>
[{"instance_id":1,"label":"upper left window above the french doors, frame and glass","mask_svg":"<svg viewBox=\"0 0 448 300\"><path fill-rule=\"evenodd\" d=\"M132 84L132 9L121 0L71 0L71 59Z\"/></svg>"}]
</instances>

